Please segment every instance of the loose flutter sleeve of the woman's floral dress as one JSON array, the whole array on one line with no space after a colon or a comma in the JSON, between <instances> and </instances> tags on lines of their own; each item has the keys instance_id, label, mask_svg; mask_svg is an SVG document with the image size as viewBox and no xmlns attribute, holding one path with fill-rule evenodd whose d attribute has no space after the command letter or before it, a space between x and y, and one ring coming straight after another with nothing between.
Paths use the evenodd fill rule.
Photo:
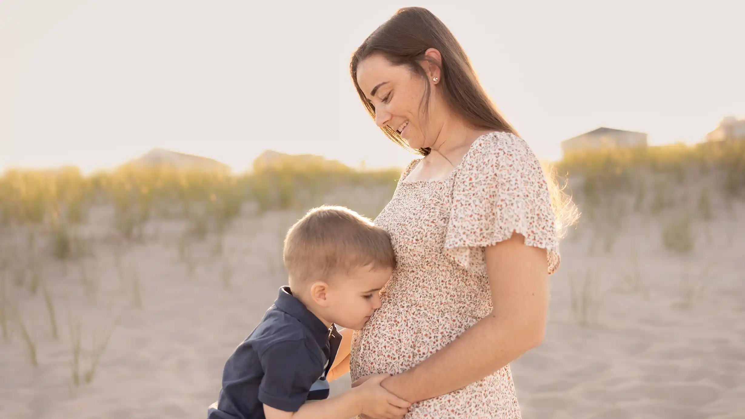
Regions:
<instances>
[{"instance_id":1,"label":"loose flutter sleeve of the woman's floral dress","mask_svg":"<svg viewBox=\"0 0 745 419\"><path fill-rule=\"evenodd\" d=\"M533 151L510 133L475 145L454 181L445 253L463 268L486 274L484 248L509 239L544 248L548 274L559 266L559 240L548 183Z\"/></svg>"}]
</instances>

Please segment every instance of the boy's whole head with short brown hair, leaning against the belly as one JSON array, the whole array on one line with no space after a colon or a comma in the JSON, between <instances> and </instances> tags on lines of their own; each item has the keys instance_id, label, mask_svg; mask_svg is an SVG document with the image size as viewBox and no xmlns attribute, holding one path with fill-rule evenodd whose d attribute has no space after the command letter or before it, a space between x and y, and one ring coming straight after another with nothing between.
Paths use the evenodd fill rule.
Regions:
<instances>
[{"instance_id":1,"label":"boy's whole head with short brown hair, leaning against the belly","mask_svg":"<svg viewBox=\"0 0 745 419\"><path fill-rule=\"evenodd\" d=\"M322 321L359 330L380 307L378 292L396 268L388 233L344 207L318 207L285 237L293 294Z\"/></svg>"}]
</instances>

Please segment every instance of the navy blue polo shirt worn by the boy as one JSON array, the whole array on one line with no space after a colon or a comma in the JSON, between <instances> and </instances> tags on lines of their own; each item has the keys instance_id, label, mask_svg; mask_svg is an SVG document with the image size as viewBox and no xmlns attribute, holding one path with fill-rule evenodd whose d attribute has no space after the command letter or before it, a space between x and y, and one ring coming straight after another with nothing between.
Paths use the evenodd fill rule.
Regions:
<instances>
[{"instance_id":1,"label":"navy blue polo shirt worn by the boy","mask_svg":"<svg viewBox=\"0 0 745 419\"><path fill-rule=\"evenodd\" d=\"M341 335L326 327L290 287L279 289L261 323L225 364L223 388L208 419L264 418L264 406L297 412L308 400L329 397L329 373Z\"/></svg>"}]
</instances>

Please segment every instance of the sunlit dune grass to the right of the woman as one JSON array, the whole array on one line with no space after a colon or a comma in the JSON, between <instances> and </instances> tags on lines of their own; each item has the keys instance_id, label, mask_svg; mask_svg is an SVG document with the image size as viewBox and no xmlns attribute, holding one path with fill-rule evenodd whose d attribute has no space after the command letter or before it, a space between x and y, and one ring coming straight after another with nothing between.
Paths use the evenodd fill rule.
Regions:
<instances>
[{"instance_id":1,"label":"sunlit dune grass to the right of the woman","mask_svg":"<svg viewBox=\"0 0 745 419\"><path fill-rule=\"evenodd\" d=\"M554 167L569 181L582 222L593 225L591 254L612 251L624 220L634 216L659 224L666 250L689 253L697 242L693 224L714 218L714 199L730 207L745 199L740 140L575 152ZM682 214L683 208L692 210Z\"/></svg>"}]
</instances>

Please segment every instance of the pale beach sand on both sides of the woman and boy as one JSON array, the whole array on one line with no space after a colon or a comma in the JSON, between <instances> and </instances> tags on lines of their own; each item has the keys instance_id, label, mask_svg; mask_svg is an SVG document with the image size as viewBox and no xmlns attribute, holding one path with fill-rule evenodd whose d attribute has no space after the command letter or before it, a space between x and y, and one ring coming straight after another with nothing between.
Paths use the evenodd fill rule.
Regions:
<instances>
[{"instance_id":1,"label":"pale beach sand on both sides of the woman and boy","mask_svg":"<svg viewBox=\"0 0 745 419\"><path fill-rule=\"evenodd\" d=\"M16 283L26 230L2 230L0 252L12 257L0 278L38 365L11 322L0 338L0 418L204 417L226 358L285 283L281 239L298 213L251 214L182 248L187 256L184 221L152 222L121 249L121 269L107 208L80 230L95 255L82 264L54 260L39 242L58 338L33 275ZM545 341L512 364L524 418L745 418L745 206L696 221L687 254L665 249L659 224L630 219L607 251L589 224L562 243ZM592 292L572 298L572 281L587 278ZM80 325L77 385L71 323ZM333 383L335 394L348 387L348 375Z\"/></svg>"}]
</instances>

